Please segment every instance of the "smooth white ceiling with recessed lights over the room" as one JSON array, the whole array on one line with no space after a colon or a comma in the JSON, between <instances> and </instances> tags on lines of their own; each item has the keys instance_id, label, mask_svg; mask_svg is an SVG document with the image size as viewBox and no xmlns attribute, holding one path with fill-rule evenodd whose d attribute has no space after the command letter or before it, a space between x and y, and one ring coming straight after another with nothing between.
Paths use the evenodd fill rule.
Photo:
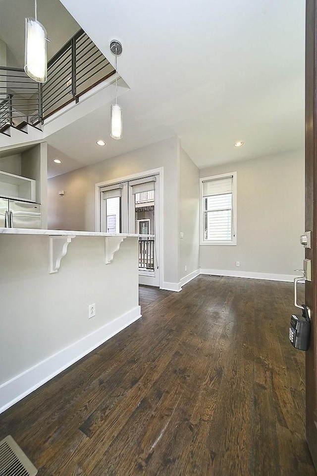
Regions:
<instances>
[{"instance_id":1,"label":"smooth white ceiling with recessed lights over the room","mask_svg":"<svg viewBox=\"0 0 317 476\"><path fill-rule=\"evenodd\" d=\"M109 42L122 42L130 90L123 139L106 104L49 138L51 176L174 135L199 168L304 147L305 0L62 3L112 63Z\"/></svg>"}]
</instances>

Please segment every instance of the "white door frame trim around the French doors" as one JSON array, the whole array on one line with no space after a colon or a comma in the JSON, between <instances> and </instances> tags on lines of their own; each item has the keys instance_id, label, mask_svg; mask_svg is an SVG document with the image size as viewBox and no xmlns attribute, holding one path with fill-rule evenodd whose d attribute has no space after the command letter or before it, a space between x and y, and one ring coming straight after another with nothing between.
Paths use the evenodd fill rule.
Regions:
<instances>
[{"instance_id":1,"label":"white door frame trim around the French doors","mask_svg":"<svg viewBox=\"0 0 317 476\"><path fill-rule=\"evenodd\" d=\"M145 170L143 172L137 172L136 174L127 175L124 177L118 177L117 179L105 180L103 182L95 183L95 230L100 232L101 223L101 193L100 189L108 185L114 185L116 183L127 182L134 179L143 179L151 177L153 175L159 175L159 288L163 289L164 282L164 220L163 220L163 167L157 169Z\"/></svg>"}]
</instances>

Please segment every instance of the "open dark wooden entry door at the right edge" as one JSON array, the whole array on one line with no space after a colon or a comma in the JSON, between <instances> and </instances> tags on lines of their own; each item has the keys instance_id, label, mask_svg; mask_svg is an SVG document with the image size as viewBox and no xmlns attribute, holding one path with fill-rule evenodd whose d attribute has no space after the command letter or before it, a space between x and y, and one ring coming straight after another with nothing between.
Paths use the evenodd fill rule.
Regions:
<instances>
[{"instance_id":1,"label":"open dark wooden entry door at the right edge","mask_svg":"<svg viewBox=\"0 0 317 476\"><path fill-rule=\"evenodd\" d=\"M317 468L317 0L306 1L306 139L305 222L312 232L312 247L305 257L312 262L312 281L305 282L305 304L311 309L311 342L306 353L306 438Z\"/></svg>"}]
</instances>

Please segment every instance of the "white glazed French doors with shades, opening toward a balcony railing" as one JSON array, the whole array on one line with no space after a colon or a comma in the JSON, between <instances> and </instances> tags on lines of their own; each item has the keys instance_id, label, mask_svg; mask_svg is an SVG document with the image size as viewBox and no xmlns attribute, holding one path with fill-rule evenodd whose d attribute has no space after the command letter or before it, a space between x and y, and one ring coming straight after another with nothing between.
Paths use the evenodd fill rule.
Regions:
<instances>
[{"instance_id":1,"label":"white glazed French doors with shades, opening toward a balcony railing","mask_svg":"<svg viewBox=\"0 0 317 476\"><path fill-rule=\"evenodd\" d=\"M159 175L100 188L101 231L139 237L139 283L159 286Z\"/></svg>"}]
</instances>

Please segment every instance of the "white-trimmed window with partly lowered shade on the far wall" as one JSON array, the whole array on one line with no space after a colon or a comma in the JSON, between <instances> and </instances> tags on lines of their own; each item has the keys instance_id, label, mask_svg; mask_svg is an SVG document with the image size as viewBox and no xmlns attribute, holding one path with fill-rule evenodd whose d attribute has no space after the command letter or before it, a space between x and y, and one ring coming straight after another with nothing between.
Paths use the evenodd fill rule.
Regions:
<instances>
[{"instance_id":1,"label":"white-trimmed window with partly lowered shade on the far wall","mask_svg":"<svg viewBox=\"0 0 317 476\"><path fill-rule=\"evenodd\" d=\"M201 179L201 244L237 244L236 180L236 172Z\"/></svg>"}]
</instances>

